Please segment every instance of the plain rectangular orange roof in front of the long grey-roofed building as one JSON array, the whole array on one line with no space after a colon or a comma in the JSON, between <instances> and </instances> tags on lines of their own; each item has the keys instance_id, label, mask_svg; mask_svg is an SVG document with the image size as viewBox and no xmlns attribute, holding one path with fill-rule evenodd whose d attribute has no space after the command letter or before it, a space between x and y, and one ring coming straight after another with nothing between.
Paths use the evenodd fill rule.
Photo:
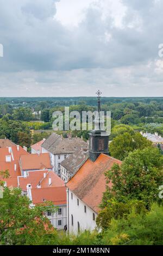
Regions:
<instances>
[{"instance_id":1,"label":"plain rectangular orange roof in front of the long grey-roofed building","mask_svg":"<svg viewBox=\"0 0 163 256\"><path fill-rule=\"evenodd\" d=\"M22 170L52 169L48 153L22 155L20 161Z\"/></svg>"}]
</instances>

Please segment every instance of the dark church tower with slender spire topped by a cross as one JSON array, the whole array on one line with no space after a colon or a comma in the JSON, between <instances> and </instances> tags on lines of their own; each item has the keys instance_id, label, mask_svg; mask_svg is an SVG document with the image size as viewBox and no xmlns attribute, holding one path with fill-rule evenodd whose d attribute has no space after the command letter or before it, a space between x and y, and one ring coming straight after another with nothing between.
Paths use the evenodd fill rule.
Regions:
<instances>
[{"instance_id":1,"label":"dark church tower with slender spire topped by a cross","mask_svg":"<svg viewBox=\"0 0 163 256\"><path fill-rule=\"evenodd\" d=\"M109 136L106 131L104 131L104 123L100 120L101 102L100 95L101 92L97 91L97 115L95 117L95 130L91 131L89 134L90 145L89 145L89 155L90 160L95 162L97 157L103 153L109 155Z\"/></svg>"}]
</instances>

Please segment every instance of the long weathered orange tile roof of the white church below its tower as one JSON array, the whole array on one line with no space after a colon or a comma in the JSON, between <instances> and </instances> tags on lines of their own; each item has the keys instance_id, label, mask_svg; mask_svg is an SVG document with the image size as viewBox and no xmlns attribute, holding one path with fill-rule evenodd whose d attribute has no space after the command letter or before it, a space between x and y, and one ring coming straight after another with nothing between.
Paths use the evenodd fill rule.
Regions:
<instances>
[{"instance_id":1,"label":"long weathered orange tile roof of the white church below its tower","mask_svg":"<svg viewBox=\"0 0 163 256\"><path fill-rule=\"evenodd\" d=\"M106 188L104 173L114 163L121 164L122 162L104 154L99 155L95 162L88 159L72 179L67 182L66 187L93 211L98 212ZM109 186L111 186L111 182Z\"/></svg>"}]
</instances>

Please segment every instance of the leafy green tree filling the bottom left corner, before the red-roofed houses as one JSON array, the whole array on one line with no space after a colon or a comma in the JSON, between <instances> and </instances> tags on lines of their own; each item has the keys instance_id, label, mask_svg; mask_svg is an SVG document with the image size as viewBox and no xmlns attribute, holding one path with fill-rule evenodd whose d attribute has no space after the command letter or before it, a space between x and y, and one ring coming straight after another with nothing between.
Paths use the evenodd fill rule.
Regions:
<instances>
[{"instance_id":1,"label":"leafy green tree filling the bottom left corner, before the red-roofed houses","mask_svg":"<svg viewBox=\"0 0 163 256\"><path fill-rule=\"evenodd\" d=\"M4 188L0 199L0 245L35 245L43 236L56 235L48 218L47 210L54 212L52 203L30 208L30 200L21 190ZM47 206L48 205L48 206Z\"/></svg>"}]
</instances>

